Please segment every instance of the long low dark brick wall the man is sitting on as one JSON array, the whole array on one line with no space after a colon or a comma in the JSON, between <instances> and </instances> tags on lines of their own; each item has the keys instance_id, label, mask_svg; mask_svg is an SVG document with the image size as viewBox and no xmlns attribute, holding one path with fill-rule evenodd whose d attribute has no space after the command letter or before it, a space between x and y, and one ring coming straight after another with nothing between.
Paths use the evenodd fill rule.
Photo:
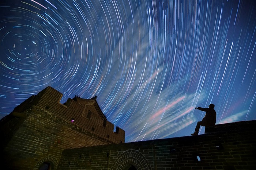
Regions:
<instances>
[{"instance_id":1,"label":"long low dark brick wall the man is sitting on","mask_svg":"<svg viewBox=\"0 0 256 170\"><path fill-rule=\"evenodd\" d=\"M57 170L256 169L256 120L219 124L214 130L198 136L64 150Z\"/></svg>"}]
</instances>

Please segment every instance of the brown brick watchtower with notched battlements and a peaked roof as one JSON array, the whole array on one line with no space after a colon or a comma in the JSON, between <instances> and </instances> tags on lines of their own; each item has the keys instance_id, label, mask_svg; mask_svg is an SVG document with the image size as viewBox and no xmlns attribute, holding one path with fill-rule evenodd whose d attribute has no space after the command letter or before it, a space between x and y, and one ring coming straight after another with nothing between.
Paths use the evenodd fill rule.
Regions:
<instances>
[{"instance_id":1,"label":"brown brick watchtower with notched battlements and a peaked roof","mask_svg":"<svg viewBox=\"0 0 256 170\"><path fill-rule=\"evenodd\" d=\"M61 104L61 97L48 87L0 121L1 167L38 169L49 162L54 170L64 149L125 142L124 130L114 132L96 98L69 98Z\"/></svg>"}]
</instances>

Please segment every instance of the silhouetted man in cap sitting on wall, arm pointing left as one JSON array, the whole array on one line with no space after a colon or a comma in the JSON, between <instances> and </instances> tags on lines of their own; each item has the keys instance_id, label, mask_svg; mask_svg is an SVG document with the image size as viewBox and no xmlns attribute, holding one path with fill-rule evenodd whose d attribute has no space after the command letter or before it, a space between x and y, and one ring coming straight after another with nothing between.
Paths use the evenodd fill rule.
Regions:
<instances>
[{"instance_id":1,"label":"silhouetted man in cap sitting on wall, arm pointing left","mask_svg":"<svg viewBox=\"0 0 256 170\"><path fill-rule=\"evenodd\" d=\"M209 108L202 108L202 107L196 107L196 109L200 110L200 111L204 111L205 116L203 118L202 121L198 121L196 124L196 129L195 132L193 134L191 134L192 136L198 135L200 126L213 126L216 123L216 112L214 110L214 104L210 104L208 105Z\"/></svg>"}]
</instances>

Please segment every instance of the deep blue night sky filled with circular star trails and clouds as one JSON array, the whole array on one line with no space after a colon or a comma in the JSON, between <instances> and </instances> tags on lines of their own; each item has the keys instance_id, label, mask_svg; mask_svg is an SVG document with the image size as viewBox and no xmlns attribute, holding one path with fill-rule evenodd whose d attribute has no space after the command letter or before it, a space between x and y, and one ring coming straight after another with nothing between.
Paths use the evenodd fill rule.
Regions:
<instances>
[{"instance_id":1,"label":"deep blue night sky filled with circular star trails and clouds","mask_svg":"<svg viewBox=\"0 0 256 170\"><path fill-rule=\"evenodd\" d=\"M210 103L256 119L255 0L1 0L0 40L1 118L52 86L125 142L188 136Z\"/></svg>"}]
</instances>

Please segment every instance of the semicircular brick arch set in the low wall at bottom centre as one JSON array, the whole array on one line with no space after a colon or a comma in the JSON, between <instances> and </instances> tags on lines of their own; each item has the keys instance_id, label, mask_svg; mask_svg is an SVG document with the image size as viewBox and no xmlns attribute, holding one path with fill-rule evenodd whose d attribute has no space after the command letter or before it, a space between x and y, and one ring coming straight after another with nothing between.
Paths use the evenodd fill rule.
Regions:
<instances>
[{"instance_id":1,"label":"semicircular brick arch set in the low wall at bottom centre","mask_svg":"<svg viewBox=\"0 0 256 170\"><path fill-rule=\"evenodd\" d=\"M123 152L113 163L112 170L124 170L128 165L133 165L138 170L151 170L147 159L136 150Z\"/></svg>"}]
</instances>

